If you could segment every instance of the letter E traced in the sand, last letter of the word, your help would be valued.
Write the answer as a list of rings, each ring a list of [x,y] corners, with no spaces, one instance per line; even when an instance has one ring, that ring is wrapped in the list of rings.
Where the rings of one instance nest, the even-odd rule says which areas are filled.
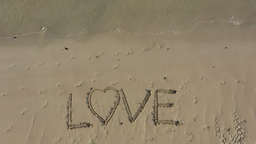
[[[158,107],[173,107],[173,103],[159,104],[158,103],[158,93],[166,93],[166,94],[176,94],[177,91],[172,89],[156,89],[155,91],[155,105],[154,105],[154,123],[157,124],[173,124],[173,125],[182,125],[179,121],[173,120],[159,120],[158,119]]]

